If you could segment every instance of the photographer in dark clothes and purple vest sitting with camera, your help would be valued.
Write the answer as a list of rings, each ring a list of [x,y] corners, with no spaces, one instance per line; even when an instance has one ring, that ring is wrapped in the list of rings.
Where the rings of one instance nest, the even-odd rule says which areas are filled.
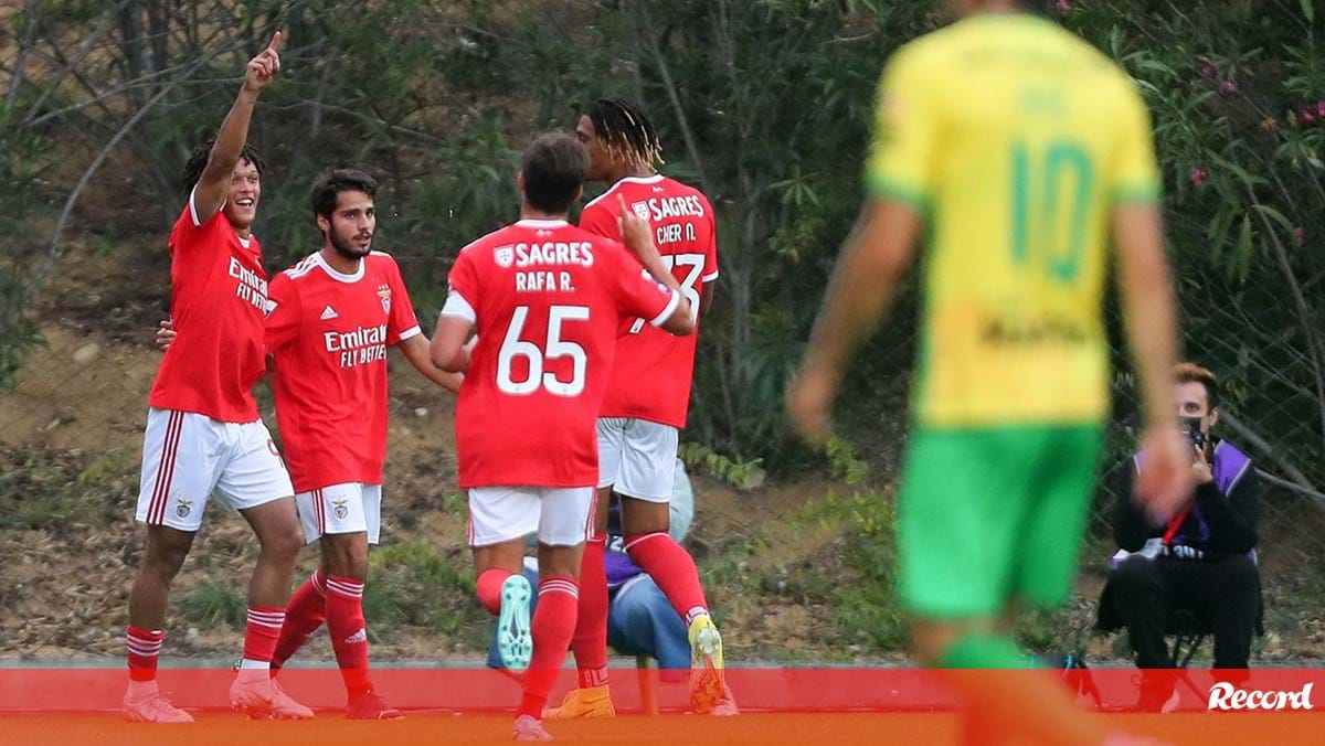
[[[1120,465],[1113,535],[1121,550],[1100,599],[1098,627],[1128,628],[1138,668],[1174,668],[1165,633],[1186,612],[1189,625],[1214,633],[1216,669],[1246,669],[1260,615],[1253,551],[1260,481],[1246,453],[1211,437],[1219,421],[1215,374],[1183,363],[1174,378],[1178,416],[1192,444],[1195,493],[1171,521],[1157,523],[1133,501],[1145,452]],[[1166,692],[1151,696],[1167,698]]]

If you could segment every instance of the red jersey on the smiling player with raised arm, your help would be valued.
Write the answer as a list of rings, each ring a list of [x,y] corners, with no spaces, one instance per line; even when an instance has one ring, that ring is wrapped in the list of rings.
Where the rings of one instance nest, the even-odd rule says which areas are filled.
[[[193,195],[170,233],[171,319],[147,403],[223,423],[257,420],[253,384],[266,367],[266,273],[257,239],[240,239],[221,211],[197,220]]]

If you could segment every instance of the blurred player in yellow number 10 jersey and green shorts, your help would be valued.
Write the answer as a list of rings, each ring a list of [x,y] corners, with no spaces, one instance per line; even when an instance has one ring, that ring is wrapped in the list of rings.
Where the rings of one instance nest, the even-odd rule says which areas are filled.
[[[898,501],[913,651],[954,669],[970,735],[1094,746],[1104,725],[1047,672],[988,686],[969,669],[1026,668],[1003,632],[1012,604],[1059,604],[1071,588],[1108,416],[1109,233],[1145,395],[1138,500],[1165,515],[1186,494],[1150,122],[1128,74],[1052,21],[1014,0],[950,7],[958,23],[905,45],[884,72],[869,199],[788,407],[806,435],[827,436],[848,358],[924,228],[924,337]]]

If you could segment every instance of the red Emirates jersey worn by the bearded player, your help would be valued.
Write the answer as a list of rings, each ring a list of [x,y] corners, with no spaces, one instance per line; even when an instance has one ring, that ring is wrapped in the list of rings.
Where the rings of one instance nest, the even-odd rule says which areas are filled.
[[[384,253],[370,253],[355,274],[314,253],[272,280],[266,343],[295,492],[382,484],[387,347],[416,334],[400,269]]]

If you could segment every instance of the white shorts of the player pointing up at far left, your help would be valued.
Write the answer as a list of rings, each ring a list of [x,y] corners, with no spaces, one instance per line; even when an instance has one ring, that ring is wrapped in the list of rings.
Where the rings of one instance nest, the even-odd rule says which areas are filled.
[[[152,526],[196,531],[212,494],[236,510],[294,494],[266,425],[150,408],[135,517]]]

